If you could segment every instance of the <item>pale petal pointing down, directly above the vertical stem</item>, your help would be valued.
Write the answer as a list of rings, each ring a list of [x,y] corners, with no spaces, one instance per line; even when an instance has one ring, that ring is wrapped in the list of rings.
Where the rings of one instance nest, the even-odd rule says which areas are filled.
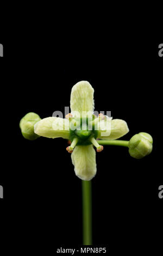
[[[78,178],[91,180],[96,175],[96,151],[92,145],[76,146],[71,159]]]

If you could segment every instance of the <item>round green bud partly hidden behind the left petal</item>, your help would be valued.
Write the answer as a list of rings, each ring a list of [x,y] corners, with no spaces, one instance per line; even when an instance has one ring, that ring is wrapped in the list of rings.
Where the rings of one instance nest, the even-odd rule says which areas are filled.
[[[40,120],[41,118],[39,117],[39,115],[33,112],[24,115],[19,124],[24,138],[29,139],[30,141],[34,141],[34,139],[40,137],[39,135],[34,133],[34,125]]]

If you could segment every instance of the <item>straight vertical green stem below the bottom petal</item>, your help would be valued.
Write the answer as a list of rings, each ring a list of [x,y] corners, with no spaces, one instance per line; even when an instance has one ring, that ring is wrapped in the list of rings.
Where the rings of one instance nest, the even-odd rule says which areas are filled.
[[[82,180],[83,245],[92,245],[92,188],[91,181]]]

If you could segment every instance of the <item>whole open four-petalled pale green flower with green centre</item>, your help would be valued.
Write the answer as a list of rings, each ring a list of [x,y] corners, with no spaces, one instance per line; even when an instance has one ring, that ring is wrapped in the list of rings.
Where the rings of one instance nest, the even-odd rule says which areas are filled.
[[[91,180],[96,175],[97,152],[103,150],[97,139],[117,139],[129,131],[126,121],[93,114],[94,90],[87,81],[75,84],[71,91],[71,113],[66,119],[48,117],[34,125],[34,132],[47,138],[64,138],[71,141],[67,151],[71,154],[74,172],[82,180]]]

